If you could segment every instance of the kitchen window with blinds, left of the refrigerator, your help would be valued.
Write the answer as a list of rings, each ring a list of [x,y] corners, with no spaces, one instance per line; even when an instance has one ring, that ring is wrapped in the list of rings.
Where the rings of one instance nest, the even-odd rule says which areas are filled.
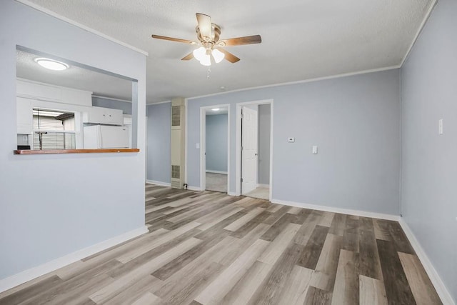
[[[74,113],[33,109],[34,150],[75,149]]]

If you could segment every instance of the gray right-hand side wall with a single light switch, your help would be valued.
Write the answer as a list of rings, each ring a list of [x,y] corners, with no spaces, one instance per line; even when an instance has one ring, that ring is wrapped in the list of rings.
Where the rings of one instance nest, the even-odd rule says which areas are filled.
[[[457,1],[440,0],[401,69],[403,218],[457,301]],[[443,135],[438,120],[443,119]]]

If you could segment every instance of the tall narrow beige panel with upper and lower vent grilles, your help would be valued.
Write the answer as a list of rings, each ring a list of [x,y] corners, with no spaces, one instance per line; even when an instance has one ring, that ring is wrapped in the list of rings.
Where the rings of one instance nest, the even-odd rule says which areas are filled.
[[[171,99],[171,187],[184,188],[184,98]]]

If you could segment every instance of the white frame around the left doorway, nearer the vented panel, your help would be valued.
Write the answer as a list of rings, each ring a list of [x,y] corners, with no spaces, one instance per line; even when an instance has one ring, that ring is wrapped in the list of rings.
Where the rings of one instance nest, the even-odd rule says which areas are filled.
[[[213,108],[227,108],[227,194],[230,189],[230,104],[218,104],[200,107],[200,189],[206,189],[206,110]]]

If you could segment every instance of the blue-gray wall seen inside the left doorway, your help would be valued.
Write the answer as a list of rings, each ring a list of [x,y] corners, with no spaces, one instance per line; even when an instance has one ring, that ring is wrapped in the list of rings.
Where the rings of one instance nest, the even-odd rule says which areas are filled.
[[[227,114],[206,116],[206,171],[227,171]]]

